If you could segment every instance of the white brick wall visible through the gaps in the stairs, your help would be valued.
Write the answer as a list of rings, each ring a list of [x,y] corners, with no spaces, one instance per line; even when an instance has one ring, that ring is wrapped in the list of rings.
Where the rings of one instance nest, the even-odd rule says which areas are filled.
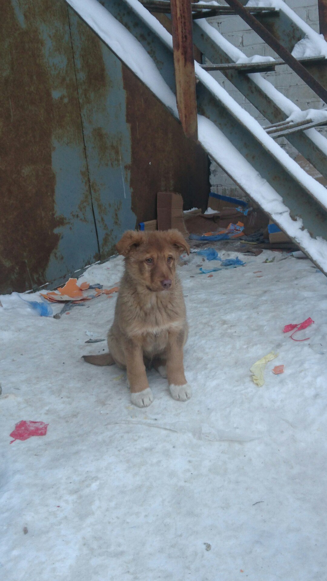
[[[298,16],[301,17],[311,28],[319,33],[318,0],[286,0]],[[261,55],[279,58],[272,49],[258,37],[254,31],[239,16],[216,16],[208,19],[208,22],[216,27],[219,32],[234,46],[240,48],[246,56]],[[230,83],[222,73],[216,71],[211,73],[219,84],[229,92],[243,109],[246,109],[261,125],[269,124],[264,117],[255,109],[247,99]],[[317,95],[303,83],[303,81],[293,73],[288,65],[276,67],[275,73],[264,73],[263,76],[274,85],[283,95],[291,99],[300,109],[321,109],[322,101]],[[319,129],[327,137],[326,129]],[[293,158],[297,151],[285,138],[276,140],[279,145],[286,149]],[[225,172],[217,166],[211,164],[211,189],[213,192],[223,195],[237,196],[244,198],[244,193],[234,184]]]

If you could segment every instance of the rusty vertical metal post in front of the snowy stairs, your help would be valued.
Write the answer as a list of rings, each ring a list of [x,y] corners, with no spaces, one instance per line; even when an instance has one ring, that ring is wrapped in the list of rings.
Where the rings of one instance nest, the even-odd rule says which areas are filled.
[[[185,135],[197,141],[197,97],[191,2],[190,0],[170,0],[170,7],[179,119]]]

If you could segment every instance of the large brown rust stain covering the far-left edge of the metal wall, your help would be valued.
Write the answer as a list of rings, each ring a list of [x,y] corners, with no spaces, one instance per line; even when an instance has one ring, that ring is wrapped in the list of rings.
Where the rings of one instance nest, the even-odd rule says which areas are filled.
[[[40,8],[40,7],[38,7]],[[55,229],[65,218],[55,214],[52,136],[65,130],[70,107],[65,95],[54,103],[43,41],[33,3],[24,10],[24,28],[10,2],[2,5],[0,88],[0,291],[23,291],[44,282],[56,249]],[[42,6],[54,16],[51,2]],[[55,17],[58,18],[58,5]]]

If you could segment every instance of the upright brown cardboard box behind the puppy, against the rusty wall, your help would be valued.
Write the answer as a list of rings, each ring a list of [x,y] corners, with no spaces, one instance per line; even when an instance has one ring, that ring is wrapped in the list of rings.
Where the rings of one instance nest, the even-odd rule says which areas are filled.
[[[158,192],[157,195],[158,230],[176,228],[183,236],[189,236],[184,224],[183,198],[176,192]]]

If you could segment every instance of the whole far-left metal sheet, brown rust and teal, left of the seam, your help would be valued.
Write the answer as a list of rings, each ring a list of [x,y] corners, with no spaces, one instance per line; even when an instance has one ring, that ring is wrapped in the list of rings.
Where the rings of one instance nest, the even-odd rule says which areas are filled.
[[[1,23],[0,292],[10,292],[97,260],[98,244],[66,5],[7,0]]]

